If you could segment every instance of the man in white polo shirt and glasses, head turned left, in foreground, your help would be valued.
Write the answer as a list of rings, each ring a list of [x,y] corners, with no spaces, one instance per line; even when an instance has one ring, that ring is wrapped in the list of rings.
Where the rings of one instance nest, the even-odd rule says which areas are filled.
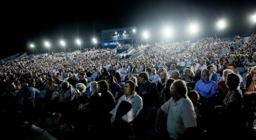
[[[170,86],[172,98],[168,100],[156,115],[156,132],[160,133],[160,122],[164,113],[168,114],[167,130],[170,138],[188,138],[196,132],[196,113],[191,100],[187,97],[186,83],[175,80]]]

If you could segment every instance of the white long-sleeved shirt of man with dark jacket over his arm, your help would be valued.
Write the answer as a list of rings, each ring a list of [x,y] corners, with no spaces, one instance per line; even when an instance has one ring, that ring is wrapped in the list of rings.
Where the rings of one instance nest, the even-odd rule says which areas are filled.
[[[132,104],[132,109],[129,112],[127,112],[124,116],[122,116],[122,119],[124,121],[130,123],[130,122],[132,122],[132,120],[134,120],[134,118],[136,118],[140,114],[140,112],[142,110],[142,106],[143,106],[142,98],[136,92],[134,94],[132,94],[130,96],[130,98],[128,98],[128,99],[126,99],[126,96],[123,95],[118,100],[116,107],[109,112],[110,114],[112,114],[112,117],[110,118],[111,122],[114,122],[114,120],[116,118],[116,110],[117,110],[119,104],[125,100]]]

